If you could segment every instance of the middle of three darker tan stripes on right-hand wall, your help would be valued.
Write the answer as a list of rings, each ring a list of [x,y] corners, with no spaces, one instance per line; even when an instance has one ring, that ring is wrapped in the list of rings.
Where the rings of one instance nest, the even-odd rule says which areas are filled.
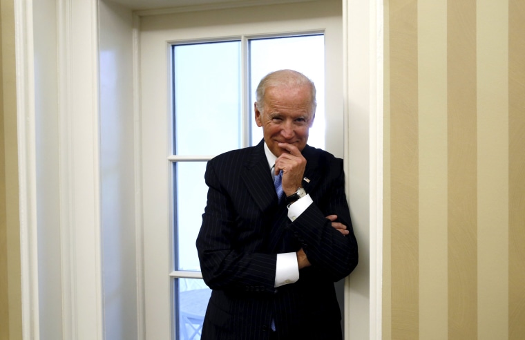
[[[477,338],[476,3],[448,0],[448,339]]]

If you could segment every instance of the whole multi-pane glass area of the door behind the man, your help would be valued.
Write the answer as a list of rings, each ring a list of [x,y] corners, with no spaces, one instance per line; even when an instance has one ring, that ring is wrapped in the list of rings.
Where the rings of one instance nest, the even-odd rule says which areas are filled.
[[[322,34],[171,46],[173,154],[168,160],[174,239],[170,277],[177,339],[200,339],[211,292],[202,281],[195,249],[206,205],[206,161],[262,139],[262,131],[254,124],[254,92],[264,75],[282,68],[303,72],[315,82],[318,108],[309,144],[324,148],[324,50]],[[245,62],[242,56],[247,56]]]

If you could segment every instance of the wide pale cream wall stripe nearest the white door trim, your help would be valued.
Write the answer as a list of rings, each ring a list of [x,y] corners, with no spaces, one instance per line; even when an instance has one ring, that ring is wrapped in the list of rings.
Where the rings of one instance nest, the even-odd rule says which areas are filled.
[[[418,1],[419,339],[447,339],[447,3]]]

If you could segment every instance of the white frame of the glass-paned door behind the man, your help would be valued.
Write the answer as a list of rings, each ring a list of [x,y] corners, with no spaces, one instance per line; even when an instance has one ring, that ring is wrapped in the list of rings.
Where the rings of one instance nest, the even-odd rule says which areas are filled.
[[[337,1],[331,1],[337,4]],[[300,5],[297,5],[300,6]],[[233,9],[231,15],[238,15],[238,11],[250,12],[251,8]],[[270,9],[268,9],[270,10]],[[206,17],[207,12],[194,13],[195,17]],[[225,15],[222,12],[222,15]],[[163,20],[153,17],[142,17],[140,20],[140,97],[141,97],[141,145],[142,145],[142,220],[144,228],[144,306],[146,334],[151,339],[172,339],[173,310],[171,301],[174,301],[173,287],[170,276],[185,278],[200,278],[198,272],[173,272],[173,207],[171,185],[171,167],[169,161],[172,152],[171,126],[172,97],[171,97],[171,45],[173,43],[190,43],[195,41],[241,39],[247,44],[248,39],[274,37],[276,35],[291,36],[318,34],[325,35],[326,48],[332,48],[333,53],[325,55],[325,84],[327,129],[332,136],[338,138],[327,140],[325,149],[343,157],[343,77],[341,65],[343,53],[342,21],[341,16],[313,18],[293,21],[272,21],[271,15],[265,23],[251,23],[243,25],[225,24],[214,27],[169,27],[164,22],[176,22],[182,19],[177,13],[163,16]],[[169,19],[168,19],[169,18]],[[166,20],[164,20],[166,19]],[[227,21],[225,15],[225,21]],[[175,25],[172,25],[172,27]],[[271,30],[271,32],[269,32]],[[326,49],[325,49],[326,50]],[[243,55],[243,68],[247,58]],[[144,65],[147,65],[144,66]],[[242,91],[247,91],[247,79],[242,79]],[[162,85],[164,84],[164,86]],[[329,88],[334,86],[334,88]],[[332,97],[330,97],[332,96]],[[247,96],[244,96],[247,97]],[[251,107],[247,102],[243,108]],[[328,113],[332,113],[332,117]],[[247,115],[243,115],[246,117]],[[248,115],[253,117],[253,115]],[[244,118],[243,118],[244,119]],[[332,119],[332,121],[330,121]],[[247,120],[241,123],[247,127]],[[163,128],[159,130],[159,126]],[[330,127],[332,126],[332,128]],[[248,131],[248,129],[244,129]],[[332,133],[332,131],[334,133]],[[248,144],[247,132],[242,136],[242,144]],[[333,142],[336,140],[336,142]],[[171,156],[173,158],[173,156]],[[181,160],[179,156],[175,156]],[[202,160],[209,157],[204,156]],[[193,160],[193,158],[191,158]],[[200,216],[195,216],[200,218]]]

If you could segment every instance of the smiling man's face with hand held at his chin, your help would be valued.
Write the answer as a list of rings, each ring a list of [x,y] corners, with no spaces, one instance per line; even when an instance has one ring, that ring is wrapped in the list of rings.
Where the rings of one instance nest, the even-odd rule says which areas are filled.
[[[308,130],[314,123],[311,98],[309,86],[269,87],[265,91],[264,113],[255,108],[257,126],[262,126],[265,142],[277,157],[285,151],[278,143],[305,149]]]

